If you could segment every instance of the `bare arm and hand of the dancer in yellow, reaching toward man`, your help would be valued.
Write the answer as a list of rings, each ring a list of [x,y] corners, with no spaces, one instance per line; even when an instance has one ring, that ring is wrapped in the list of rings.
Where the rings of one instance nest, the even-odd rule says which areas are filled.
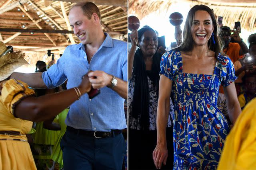
[[[85,76],[80,86],[78,86],[81,94],[90,91],[91,83],[88,76]],[[38,98],[29,96],[14,107],[14,115],[21,119],[29,121],[45,121],[51,119],[78,100],[78,95],[74,88],[63,92],[48,94]]]

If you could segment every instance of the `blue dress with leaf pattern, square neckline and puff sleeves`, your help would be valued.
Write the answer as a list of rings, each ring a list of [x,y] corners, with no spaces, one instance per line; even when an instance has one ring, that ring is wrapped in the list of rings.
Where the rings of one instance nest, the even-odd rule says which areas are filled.
[[[219,86],[236,80],[231,60],[218,55],[214,74],[182,72],[179,51],[161,59],[160,74],[173,80],[174,169],[215,170],[230,127],[216,106]]]

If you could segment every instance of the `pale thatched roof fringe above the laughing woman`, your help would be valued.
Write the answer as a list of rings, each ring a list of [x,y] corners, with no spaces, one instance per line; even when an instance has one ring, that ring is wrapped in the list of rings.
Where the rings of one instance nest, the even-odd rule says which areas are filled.
[[[217,16],[223,16],[223,25],[234,27],[235,21],[241,27],[256,32],[255,0],[129,0],[129,14],[136,14],[142,20],[150,13],[167,12],[174,3],[188,2],[190,6],[204,4],[214,10]]]

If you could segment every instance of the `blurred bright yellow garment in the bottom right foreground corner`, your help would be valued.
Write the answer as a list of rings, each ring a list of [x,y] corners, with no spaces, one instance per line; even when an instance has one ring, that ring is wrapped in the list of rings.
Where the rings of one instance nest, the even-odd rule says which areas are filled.
[[[243,109],[229,135],[218,170],[256,169],[256,98]]]

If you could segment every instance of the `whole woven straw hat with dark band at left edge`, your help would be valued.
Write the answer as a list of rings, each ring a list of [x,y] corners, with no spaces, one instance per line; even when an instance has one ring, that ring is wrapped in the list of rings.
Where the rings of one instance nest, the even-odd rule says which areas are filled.
[[[0,55],[7,50],[6,45],[0,41]],[[25,56],[22,51],[8,52],[6,55],[0,57],[0,81],[8,78],[16,68],[28,64],[23,58]]]

